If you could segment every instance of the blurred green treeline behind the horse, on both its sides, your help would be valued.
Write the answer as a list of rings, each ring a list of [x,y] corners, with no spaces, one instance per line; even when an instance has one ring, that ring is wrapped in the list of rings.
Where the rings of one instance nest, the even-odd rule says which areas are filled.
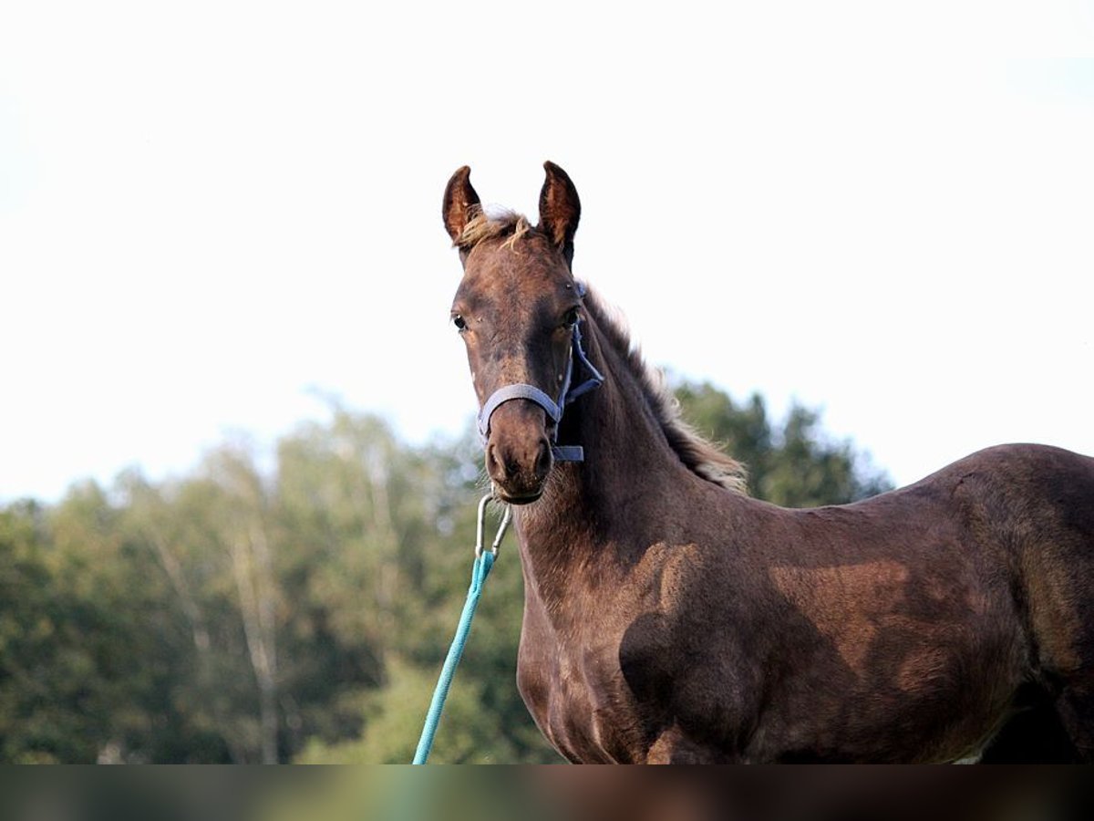
[[[887,488],[815,413],[685,384],[685,415],[789,506]],[[272,456],[272,458],[271,458]],[[463,603],[481,454],[333,408],[276,453],[228,442],[0,509],[0,762],[406,762]],[[556,761],[514,683],[512,544],[431,761]]]

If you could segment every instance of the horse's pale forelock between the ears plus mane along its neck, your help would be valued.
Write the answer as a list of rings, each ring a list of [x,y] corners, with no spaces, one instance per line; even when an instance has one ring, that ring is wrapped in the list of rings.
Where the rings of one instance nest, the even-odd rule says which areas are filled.
[[[487,215],[480,207],[467,221],[455,245],[462,251],[470,251],[484,240],[508,236],[514,243],[535,229],[527,218],[514,211],[499,211]],[[590,313],[604,331],[607,344],[619,355],[638,380],[647,404],[661,425],[661,430],[679,460],[698,476],[715,485],[746,493],[747,474],[745,466],[730,456],[714,442],[705,439],[680,416],[680,404],[665,381],[664,373],[647,365],[638,346],[631,340],[630,332],[622,314],[609,309],[598,296],[590,293],[585,299]]]

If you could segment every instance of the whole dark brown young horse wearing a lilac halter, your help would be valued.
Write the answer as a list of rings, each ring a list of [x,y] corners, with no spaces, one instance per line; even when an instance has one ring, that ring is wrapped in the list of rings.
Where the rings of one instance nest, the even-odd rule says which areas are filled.
[[[1010,444],[853,505],[749,498],[573,278],[578,194],[546,170],[537,226],[485,216],[466,167],[444,223],[486,469],[521,506],[517,683],[558,751],[1089,760],[1094,460]]]

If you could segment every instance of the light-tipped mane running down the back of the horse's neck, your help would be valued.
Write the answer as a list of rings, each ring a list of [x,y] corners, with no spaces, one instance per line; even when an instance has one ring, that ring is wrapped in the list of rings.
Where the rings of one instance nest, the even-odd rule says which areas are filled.
[[[714,442],[703,438],[680,415],[679,400],[673,394],[661,369],[645,362],[633,343],[622,314],[608,308],[598,294],[585,297],[585,308],[604,332],[608,345],[638,380],[645,401],[661,424],[670,447],[693,473],[734,493],[747,493],[745,466]]]

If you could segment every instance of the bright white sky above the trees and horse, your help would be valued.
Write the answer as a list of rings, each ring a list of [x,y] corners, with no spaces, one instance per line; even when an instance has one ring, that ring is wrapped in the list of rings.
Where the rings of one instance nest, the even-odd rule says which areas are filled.
[[[899,485],[1094,454],[1094,3],[374,5],[0,7],[0,502],[464,430],[444,184],[547,159],[650,361]]]

